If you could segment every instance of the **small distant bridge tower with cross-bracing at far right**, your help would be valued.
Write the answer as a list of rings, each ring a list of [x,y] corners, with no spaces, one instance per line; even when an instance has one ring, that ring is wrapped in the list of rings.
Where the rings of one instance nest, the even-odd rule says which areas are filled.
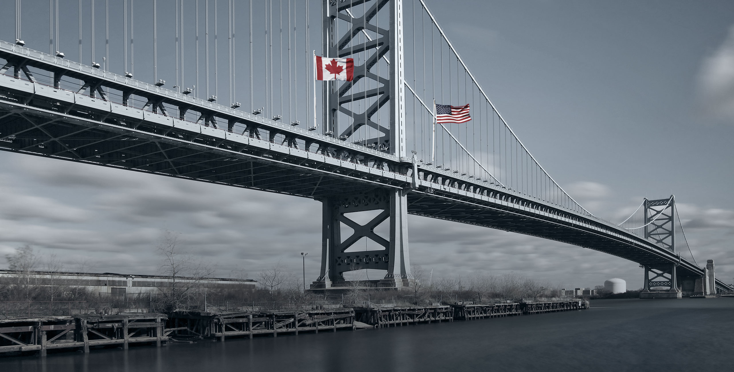
[[[644,200],[644,237],[675,253],[675,198]],[[680,256],[679,256],[680,260]],[[640,298],[680,298],[678,263],[643,265],[644,288]],[[686,284],[688,284],[688,280]],[[660,289],[666,288],[666,289]],[[688,288],[686,288],[688,289]],[[692,288],[691,288],[692,291]]]

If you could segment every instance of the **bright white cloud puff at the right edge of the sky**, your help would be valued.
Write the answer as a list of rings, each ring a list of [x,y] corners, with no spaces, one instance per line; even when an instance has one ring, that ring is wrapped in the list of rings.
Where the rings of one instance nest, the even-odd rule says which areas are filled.
[[[734,26],[724,43],[704,59],[699,93],[707,114],[734,124]]]

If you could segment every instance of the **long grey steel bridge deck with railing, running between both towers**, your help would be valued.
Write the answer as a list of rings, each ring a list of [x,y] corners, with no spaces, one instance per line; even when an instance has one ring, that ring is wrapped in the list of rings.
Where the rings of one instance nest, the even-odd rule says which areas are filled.
[[[0,150],[316,198],[404,189],[410,214],[703,270],[608,222],[514,190],[0,42],[0,58],[165,103],[179,116],[0,74]],[[60,74],[60,73],[59,73]],[[144,100],[144,101],[145,101]],[[158,106],[165,107],[165,106]],[[191,112],[200,120],[189,121]],[[183,114],[181,114],[183,113]],[[189,116],[186,116],[189,114]],[[203,120],[201,120],[204,118]],[[208,119],[207,119],[208,118]],[[219,123],[222,128],[219,128]],[[222,123],[227,123],[224,129]],[[417,172],[416,172],[417,171]],[[717,280],[724,288],[724,283]]]

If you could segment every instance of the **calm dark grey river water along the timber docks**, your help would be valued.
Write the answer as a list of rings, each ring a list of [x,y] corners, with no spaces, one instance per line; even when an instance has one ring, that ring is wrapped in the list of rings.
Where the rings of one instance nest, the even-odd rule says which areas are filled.
[[[566,313],[0,357],[0,371],[733,371],[733,330],[734,298],[596,300]]]

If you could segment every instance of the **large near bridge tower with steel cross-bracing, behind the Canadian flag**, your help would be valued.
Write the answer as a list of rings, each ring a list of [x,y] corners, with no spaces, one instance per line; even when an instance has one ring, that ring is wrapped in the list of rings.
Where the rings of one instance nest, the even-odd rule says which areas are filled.
[[[398,156],[402,169],[392,170],[407,174],[414,159],[406,154],[402,1],[324,0],[323,4],[325,56],[355,59],[353,81],[323,82],[324,134]],[[378,18],[382,20],[377,23],[379,27]],[[386,18],[389,25],[385,24]],[[380,59],[388,59],[389,63]],[[382,67],[377,68],[378,65]],[[377,135],[355,138],[360,128],[363,128],[359,132],[362,135]],[[409,285],[407,190],[376,187],[368,194],[353,194],[345,189],[343,195],[323,198],[321,202],[324,203],[321,273],[310,285],[311,290],[338,291],[349,285],[344,272],[360,269],[387,270],[381,280],[371,280],[371,285],[377,287]],[[345,216],[364,211],[382,212],[365,225]],[[382,237],[374,230],[385,221],[390,233]],[[342,236],[342,224],[353,230],[351,235]],[[355,243],[362,238],[376,243],[380,249],[356,247]]]

